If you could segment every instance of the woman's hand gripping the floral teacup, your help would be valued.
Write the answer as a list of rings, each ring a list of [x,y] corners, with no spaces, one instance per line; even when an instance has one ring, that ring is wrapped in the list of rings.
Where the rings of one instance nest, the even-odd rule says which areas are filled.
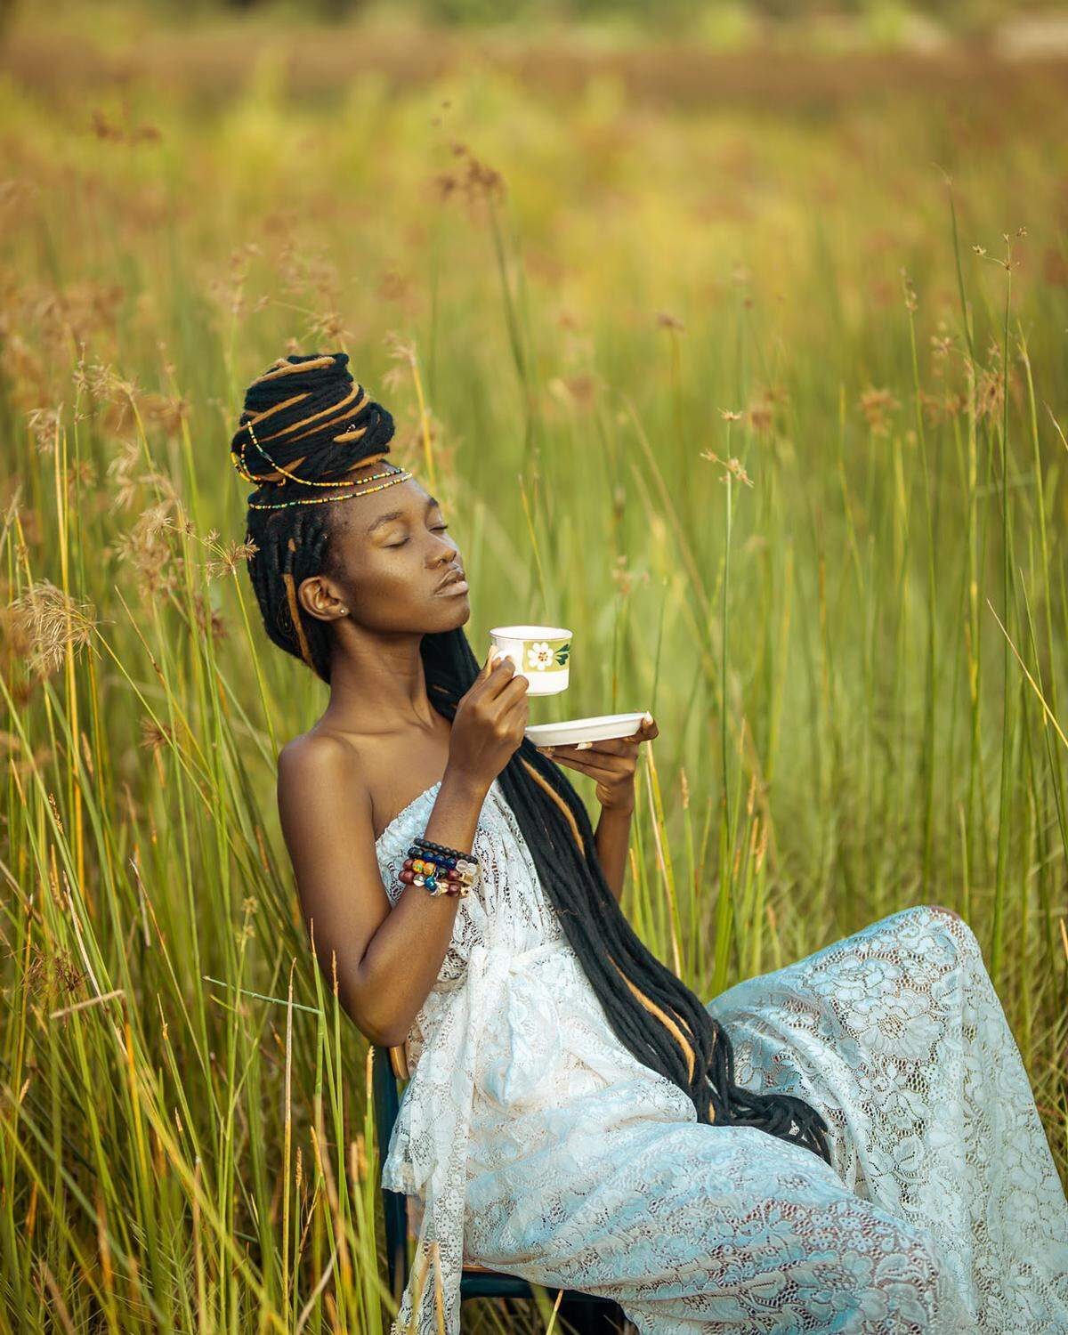
[[[526,734],[530,682],[491,647],[471,689],[461,697],[449,741],[449,765],[489,786]]]

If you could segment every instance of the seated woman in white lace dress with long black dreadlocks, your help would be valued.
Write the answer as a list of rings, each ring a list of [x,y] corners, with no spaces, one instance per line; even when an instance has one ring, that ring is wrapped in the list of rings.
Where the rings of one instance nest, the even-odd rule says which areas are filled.
[[[330,686],[279,757],[314,949],[370,1040],[409,1041],[399,1322],[455,1332],[471,1260],[655,1335],[1068,1331],[1068,1204],[971,930],[908,909],[704,1005],[618,902],[655,724],[557,749],[594,832],[347,360],[275,362],[232,455],[267,633]]]

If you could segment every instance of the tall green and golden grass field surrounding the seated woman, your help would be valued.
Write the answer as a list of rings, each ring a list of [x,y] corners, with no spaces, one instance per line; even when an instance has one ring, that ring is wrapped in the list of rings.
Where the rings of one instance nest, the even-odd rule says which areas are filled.
[[[0,69],[5,1328],[388,1319],[275,814],[324,693],[235,558],[287,351],[395,413],[478,654],[574,627],[531,721],[655,714],[661,957],[955,908],[1068,1177],[1065,71],[134,31]]]

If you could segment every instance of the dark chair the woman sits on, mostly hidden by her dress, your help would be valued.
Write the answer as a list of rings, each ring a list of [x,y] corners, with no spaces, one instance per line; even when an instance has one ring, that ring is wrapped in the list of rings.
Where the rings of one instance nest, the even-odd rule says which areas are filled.
[[[374,1048],[374,1104],[375,1135],[384,1155],[392,1136],[394,1123],[400,1109],[398,1080],[407,1080],[407,1053],[403,1047]],[[390,1275],[390,1292],[400,1300],[409,1282],[409,1218],[407,1197],[395,1191],[382,1189],[382,1216],[386,1226],[386,1264]],[[461,1274],[459,1299],[466,1303],[471,1298],[531,1299],[534,1291],[527,1280],[518,1275],[505,1275],[487,1270],[485,1266],[466,1263]],[[555,1299],[554,1299],[555,1300]],[[565,1288],[559,1304],[559,1318],[577,1331],[607,1332],[625,1328],[622,1308],[607,1298],[583,1294]]]

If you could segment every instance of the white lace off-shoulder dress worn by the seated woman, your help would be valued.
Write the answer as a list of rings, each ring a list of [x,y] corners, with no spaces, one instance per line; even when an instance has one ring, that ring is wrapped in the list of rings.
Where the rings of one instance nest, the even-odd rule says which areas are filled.
[[[378,840],[394,897],[438,788]],[[1068,1203],[963,922],[906,909],[709,1003],[741,1084],[824,1113],[830,1168],[700,1124],[627,1052],[498,780],[474,850],[383,1164],[423,1207],[400,1323],[455,1335],[470,1260],[613,1298],[655,1335],[1068,1332]]]

